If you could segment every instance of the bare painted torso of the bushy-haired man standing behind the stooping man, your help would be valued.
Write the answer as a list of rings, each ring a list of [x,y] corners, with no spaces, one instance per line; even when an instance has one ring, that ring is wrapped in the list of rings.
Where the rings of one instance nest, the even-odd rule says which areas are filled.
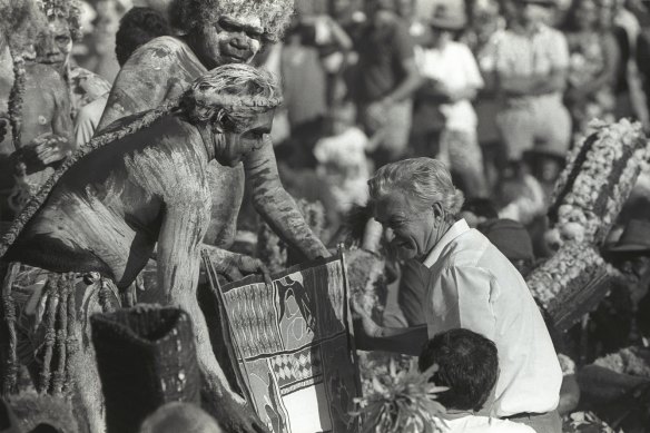
[[[206,68],[184,41],[173,37],[151,40],[131,55],[117,76],[98,130],[180,96],[205,72]],[[213,161],[208,170],[213,216],[205,243],[228,248],[235,238],[244,197],[244,167],[228,168]]]

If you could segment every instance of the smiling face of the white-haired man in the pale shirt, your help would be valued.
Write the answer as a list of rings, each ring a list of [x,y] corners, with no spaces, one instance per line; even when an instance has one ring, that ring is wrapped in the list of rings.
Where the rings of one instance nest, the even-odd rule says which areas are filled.
[[[384,227],[391,247],[402,259],[422,258],[435,246],[433,207],[413,206],[402,191],[392,191],[374,206],[374,217]]]

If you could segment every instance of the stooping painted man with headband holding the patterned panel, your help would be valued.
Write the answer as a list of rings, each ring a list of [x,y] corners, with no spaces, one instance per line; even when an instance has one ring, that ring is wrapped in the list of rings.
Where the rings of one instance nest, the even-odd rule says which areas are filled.
[[[24,336],[35,344],[32,356],[48,347],[36,338],[43,326],[37,318],[22,323],[30,316],[29,305],[49,306],[53,297],[65,304],[61,299],[70,299],[70,292],[78,294],[76,299],[83,299],[67,304],[68,312],[73,306],[78,324],[69,336],[80,342],[81,351],[78,355],[69,351],[71,364],[58,377],[71,380],[61,385],[56,383],[56,372],[43,374],[41,370],[37,387],[65,392],[70,383],[79,384],[86,415],[93,416],[92,432],[101,431],[102,412],[101,392],[92,374],[87,319],[92,312],[124,305],[120,296],[156,245],[155,301],[181,307],[194,321],[206,409],[226,431],[264,430],[225,385],[196,287],[200,252],[206,248],[201,239],[210,220],[208,164],[216,160],[213,168],[225,170],[265,146],[264,136],[270,131],[274,109],[280,101],[279,88],[268,72],[229,65],[204,73],[179,100],[115,122],[66,160],[0,244],[0,257],[11,263],[4,273],[9,277],[0,279],[11,285],[2,288],[2,305],[13,303],[19,313],[14,322],[18,341],[12,343],[19,355],[24,347],[24,328],[37,329],[35,335]],[[229,267],[260,267],[253,259],[247,263],[227,252],[216,250],[215,255],[219,256],[216,263],[223,273],[228,273]],[[33,267],[47,269],[41,274],[47,274],[48,282],[39,286]],[[47,311],[41,315],[49,317]],[[58,323],[52,322],[52,326]],[[49,382],[43,383],[43,378]]]

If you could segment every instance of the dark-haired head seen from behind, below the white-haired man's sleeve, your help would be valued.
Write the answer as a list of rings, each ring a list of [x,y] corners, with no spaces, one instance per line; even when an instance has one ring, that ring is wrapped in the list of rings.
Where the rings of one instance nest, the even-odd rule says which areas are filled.
[[[452,329],[430,339],[420,354],[420,371],[433,364],[439,370],[432,381],[449,387],[437,400],[451,410],[480,411],[499,377],[496,346],[470,329]]]

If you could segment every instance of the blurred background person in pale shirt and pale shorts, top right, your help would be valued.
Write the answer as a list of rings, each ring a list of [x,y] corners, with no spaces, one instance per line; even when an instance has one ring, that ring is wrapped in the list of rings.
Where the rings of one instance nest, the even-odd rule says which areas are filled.
[[[482,62],[500,97],[496,122],[510,163],[538,147],[565,154],[571,140],[562,102],[569,48],[564,36],[545,24],[554,3],[504,1],[508,28],[494,40],[491,61]]]

